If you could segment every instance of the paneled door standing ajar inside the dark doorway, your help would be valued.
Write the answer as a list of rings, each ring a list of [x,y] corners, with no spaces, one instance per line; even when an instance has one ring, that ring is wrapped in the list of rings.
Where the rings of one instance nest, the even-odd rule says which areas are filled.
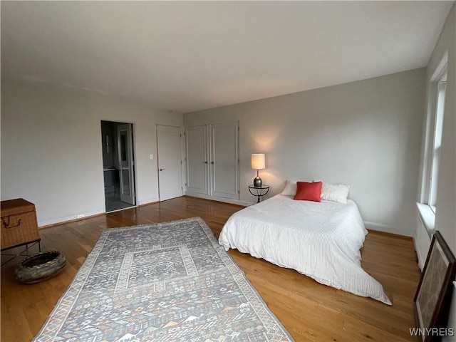
[[[135,205],[135,178],[133,172],[132,125],[118,125],[118,160],[120,175],[120,200]]]

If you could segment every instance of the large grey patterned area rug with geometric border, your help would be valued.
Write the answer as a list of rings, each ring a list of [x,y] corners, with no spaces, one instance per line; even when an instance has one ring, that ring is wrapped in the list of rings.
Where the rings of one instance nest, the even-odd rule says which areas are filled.
[[[33,341],[293,341],[199,217],[106,229]]]

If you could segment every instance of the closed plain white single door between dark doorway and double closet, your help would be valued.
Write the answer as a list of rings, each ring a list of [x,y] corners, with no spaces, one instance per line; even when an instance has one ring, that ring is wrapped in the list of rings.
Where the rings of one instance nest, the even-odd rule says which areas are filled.
[[[182,148],[179,127],[157,125],[160,201],[182,196]]]

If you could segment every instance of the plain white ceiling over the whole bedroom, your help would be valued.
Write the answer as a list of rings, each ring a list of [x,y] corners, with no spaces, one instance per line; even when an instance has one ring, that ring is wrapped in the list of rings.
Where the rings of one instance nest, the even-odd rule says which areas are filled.
[[[1,76],[190,112],[427,64],[454,1],[1,1]]]

